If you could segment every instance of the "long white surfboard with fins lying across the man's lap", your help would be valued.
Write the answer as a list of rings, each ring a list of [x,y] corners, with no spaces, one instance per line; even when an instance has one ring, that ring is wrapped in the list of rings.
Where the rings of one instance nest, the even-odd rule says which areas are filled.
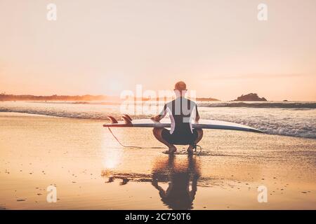
[[[108,119],[110,123],[103,125],[103,127],[171,127],[171,120],[169,118],[163,118],[160,122],[156,122],[151,119],[137,119],[132,120],[130,116],[124,114],[121,122],[118,122],[112,116],[109,116]],[[222,121],[222,120],[204,120],[200,119],[199,123],[192,123],[193,128],[201,129],[214,129],[214,130],[235,130],[235,131],[244,131],[244,132],[257,132],[263,133],[261,130],[258,130],[254,127],[249,127],[246,125],[241,125],[237,123]]]

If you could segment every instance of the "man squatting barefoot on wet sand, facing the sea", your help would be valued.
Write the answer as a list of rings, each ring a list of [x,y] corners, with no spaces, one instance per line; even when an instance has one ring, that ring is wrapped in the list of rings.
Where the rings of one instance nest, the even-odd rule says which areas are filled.
[[[162,113],[151,119],[159,122],[166,113],[169,113],[171,119],[171,130],[165,128],[155,127],[152,132],[154,137],[169,148],[169,153],[172,154],[177,151],[176,145],[189,145],[187,153],[192,154],[195,145],[202,139],[202,129],[192,129],[192,120],[195,123],[199,121],[199,112],[197,111],[197,104],[190,99],[185,98],[187,86],[184,82],[176,83],[174,91],[176,99],[164,105]]]

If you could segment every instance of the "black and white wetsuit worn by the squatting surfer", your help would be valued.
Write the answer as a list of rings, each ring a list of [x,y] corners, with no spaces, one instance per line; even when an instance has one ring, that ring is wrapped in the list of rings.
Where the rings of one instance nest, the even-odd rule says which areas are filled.
[[[165,104],[159,116],[163,118],[166,113],[169,113],[171,119],[171,130],[162,130],[162,138],[170,144],[194,144],[197,131],[192,129],[192,120],[199,116],[197,104],[185,97],[178,97]]]

